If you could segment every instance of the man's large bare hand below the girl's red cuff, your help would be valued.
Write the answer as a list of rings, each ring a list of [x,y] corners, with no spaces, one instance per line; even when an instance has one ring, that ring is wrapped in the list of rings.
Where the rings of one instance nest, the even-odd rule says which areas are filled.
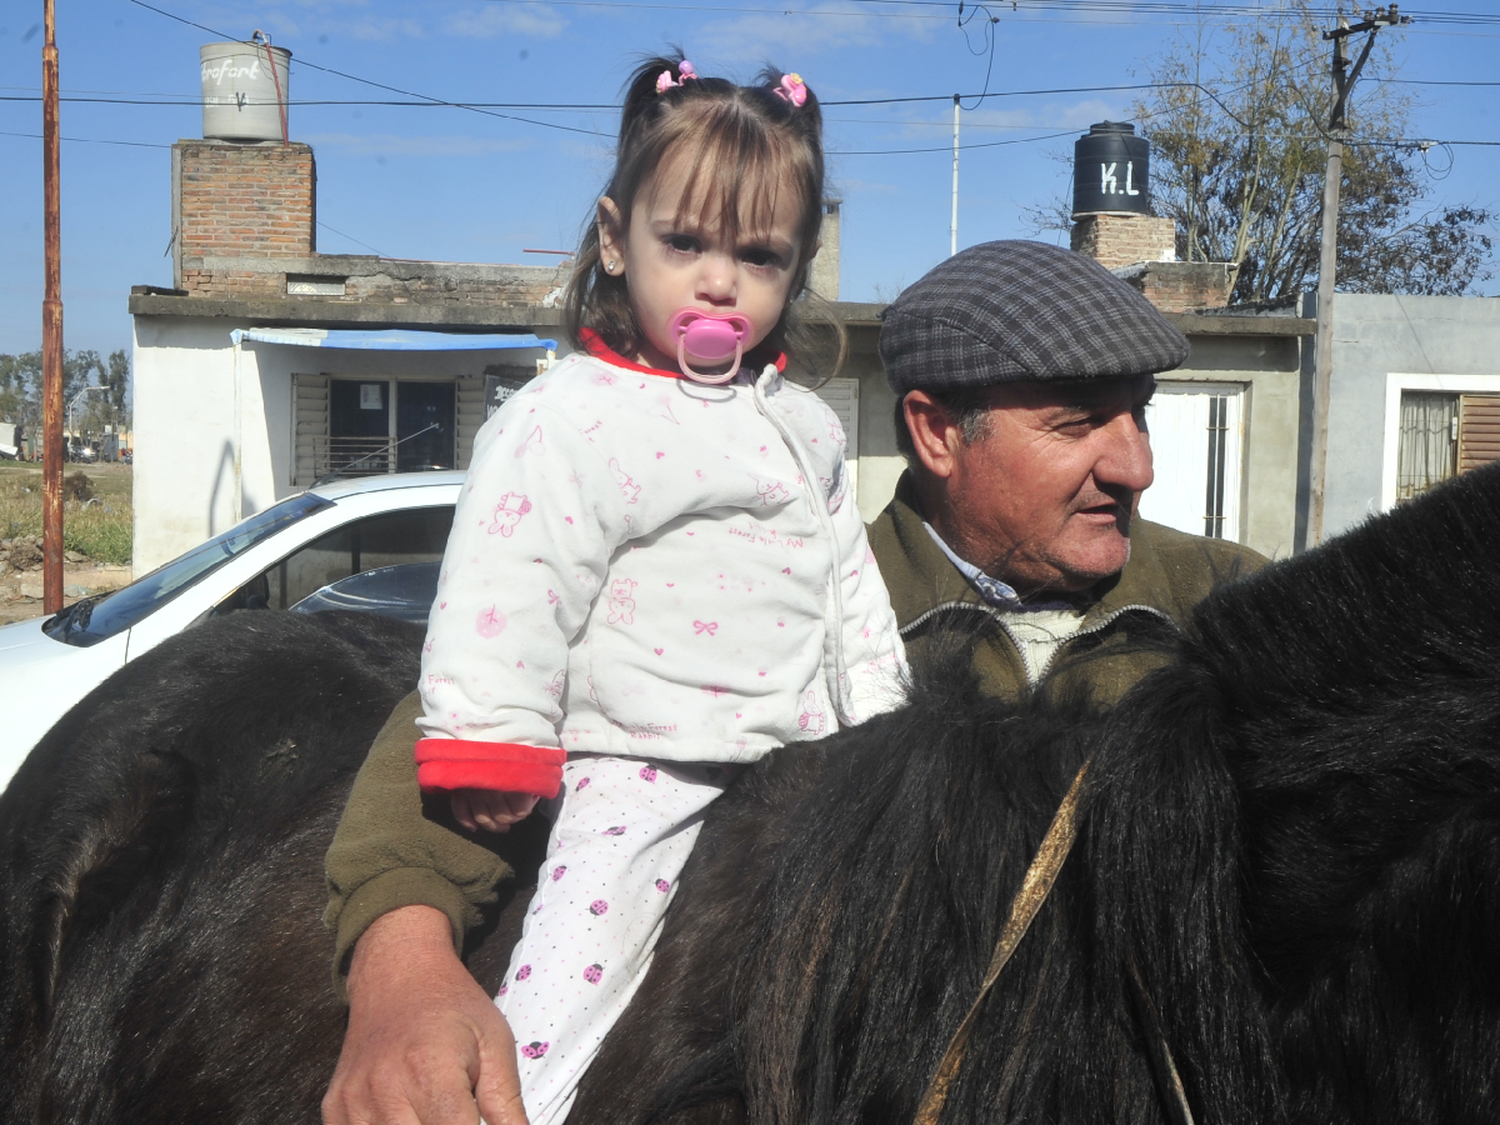
[[[526,1125],[516,1041],[430,906],[378,918],[350,963],[327,1125]]]

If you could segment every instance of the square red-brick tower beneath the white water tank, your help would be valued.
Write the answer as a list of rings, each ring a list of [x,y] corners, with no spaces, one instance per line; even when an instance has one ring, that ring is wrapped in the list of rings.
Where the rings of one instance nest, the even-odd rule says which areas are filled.
[[[267,262],[316,250],[316,182],[306,144],[174,144],[172,285],[195,297],[279,294],[284,274]],[[237,258],[255,261],[236,268]]]

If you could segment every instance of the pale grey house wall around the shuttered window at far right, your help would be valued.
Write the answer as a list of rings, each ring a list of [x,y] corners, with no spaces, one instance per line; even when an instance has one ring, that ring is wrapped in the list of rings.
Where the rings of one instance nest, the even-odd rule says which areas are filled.
[[[1390,507],[1402,387],[1500,392],[1500,300],[1341,292],[1332,370],[1324,537]]]

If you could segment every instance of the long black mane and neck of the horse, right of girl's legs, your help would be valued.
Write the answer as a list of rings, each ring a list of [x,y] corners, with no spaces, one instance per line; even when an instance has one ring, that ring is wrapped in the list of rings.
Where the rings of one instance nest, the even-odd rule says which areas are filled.
[[[952,1119],[1172,1120],[1174,1080],[1214,1122],[1472,1108],[1438,1086],[1455,1060],[1492,1070],[1500,1026],[1497,484],[1226,586],[1107,714],[986,699],[950,654],[908,708],[828,740],[770,830],[748,936],[717,933],[742,950],[729,1038],[666,1104],[736,1089],[758,1125],[910,1120],[1092,750],[1074,858],[981,1011]]]

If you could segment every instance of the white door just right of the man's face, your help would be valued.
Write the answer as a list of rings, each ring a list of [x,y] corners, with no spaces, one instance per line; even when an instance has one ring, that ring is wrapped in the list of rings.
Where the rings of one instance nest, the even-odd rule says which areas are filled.
[[[1146,408],[1155,483],[1140,514],[1178,531],[1239,540],[1245,387],[1161,382]]]

